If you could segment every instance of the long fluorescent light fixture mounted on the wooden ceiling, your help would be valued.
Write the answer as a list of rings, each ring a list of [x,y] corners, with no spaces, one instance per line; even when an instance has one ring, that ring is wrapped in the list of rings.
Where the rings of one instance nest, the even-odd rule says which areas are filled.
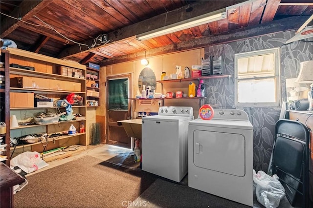
[[[226,18],[226,9],[220,9],[214,12],[210,12],[204,15],[200,15],[198,17],[194,17],[188,20],[176,22],[174,24],[170,24],[146,33],[142,33],[136,36],[138,41],[147,40],[151,38],[156,38],[162,35],[166,35],[169,33],[174,33],[180,30],[184,30],[187,28],[195,27],[201,24],[205,24],[212,21],[218,21]]]

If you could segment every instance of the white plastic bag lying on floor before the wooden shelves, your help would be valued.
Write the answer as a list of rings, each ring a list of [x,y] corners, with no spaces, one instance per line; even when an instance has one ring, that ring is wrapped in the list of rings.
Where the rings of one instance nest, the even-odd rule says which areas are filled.
[[[48,164],[40,158],[38,152],[23,152],[14,157],[11,160],[10,165],[12,167],[18,166],[26,173],[31,173],[48,166]]]

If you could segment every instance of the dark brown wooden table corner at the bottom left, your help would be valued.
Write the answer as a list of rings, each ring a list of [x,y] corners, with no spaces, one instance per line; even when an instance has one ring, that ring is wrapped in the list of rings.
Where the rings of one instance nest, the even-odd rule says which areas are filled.
[[[0,163],[0,198],[2,208],[13,208],[13,187],[26,180],[4,163]]]

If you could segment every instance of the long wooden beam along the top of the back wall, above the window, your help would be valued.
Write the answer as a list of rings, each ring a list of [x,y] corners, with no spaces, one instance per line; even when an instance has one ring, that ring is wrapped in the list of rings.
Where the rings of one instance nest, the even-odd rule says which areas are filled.
[[[248,38],[258,37],[262,35],[273,34],[281,31],[289,31],[298,29],[303,22],[307,20],[307,16],[296,16],[285,18],[277,21],[267,22],[260,25],[253,25],[245,28],[239,28],[231,32],[226,32],[220,35],[209,35],[191,41],[170,44],[163,47],[151,49],[144,52],[138,52],[130,55],[125,55],[117,58],[107,59],[100,62],[100,66],[107,66],[121,62],[131,62],[140,60],[146,57],[160,56],[164,54],[177,53],[207,46],[224,44]],[[291,23],[292,22],[292,23]]]

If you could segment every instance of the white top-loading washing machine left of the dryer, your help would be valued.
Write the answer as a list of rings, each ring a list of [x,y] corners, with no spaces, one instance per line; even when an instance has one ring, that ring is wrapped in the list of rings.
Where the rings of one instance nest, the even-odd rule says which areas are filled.
[[[180,182],[188,172],[188,122],[193,119],[192,107],[177,106],[143,117],[142,170]]]

